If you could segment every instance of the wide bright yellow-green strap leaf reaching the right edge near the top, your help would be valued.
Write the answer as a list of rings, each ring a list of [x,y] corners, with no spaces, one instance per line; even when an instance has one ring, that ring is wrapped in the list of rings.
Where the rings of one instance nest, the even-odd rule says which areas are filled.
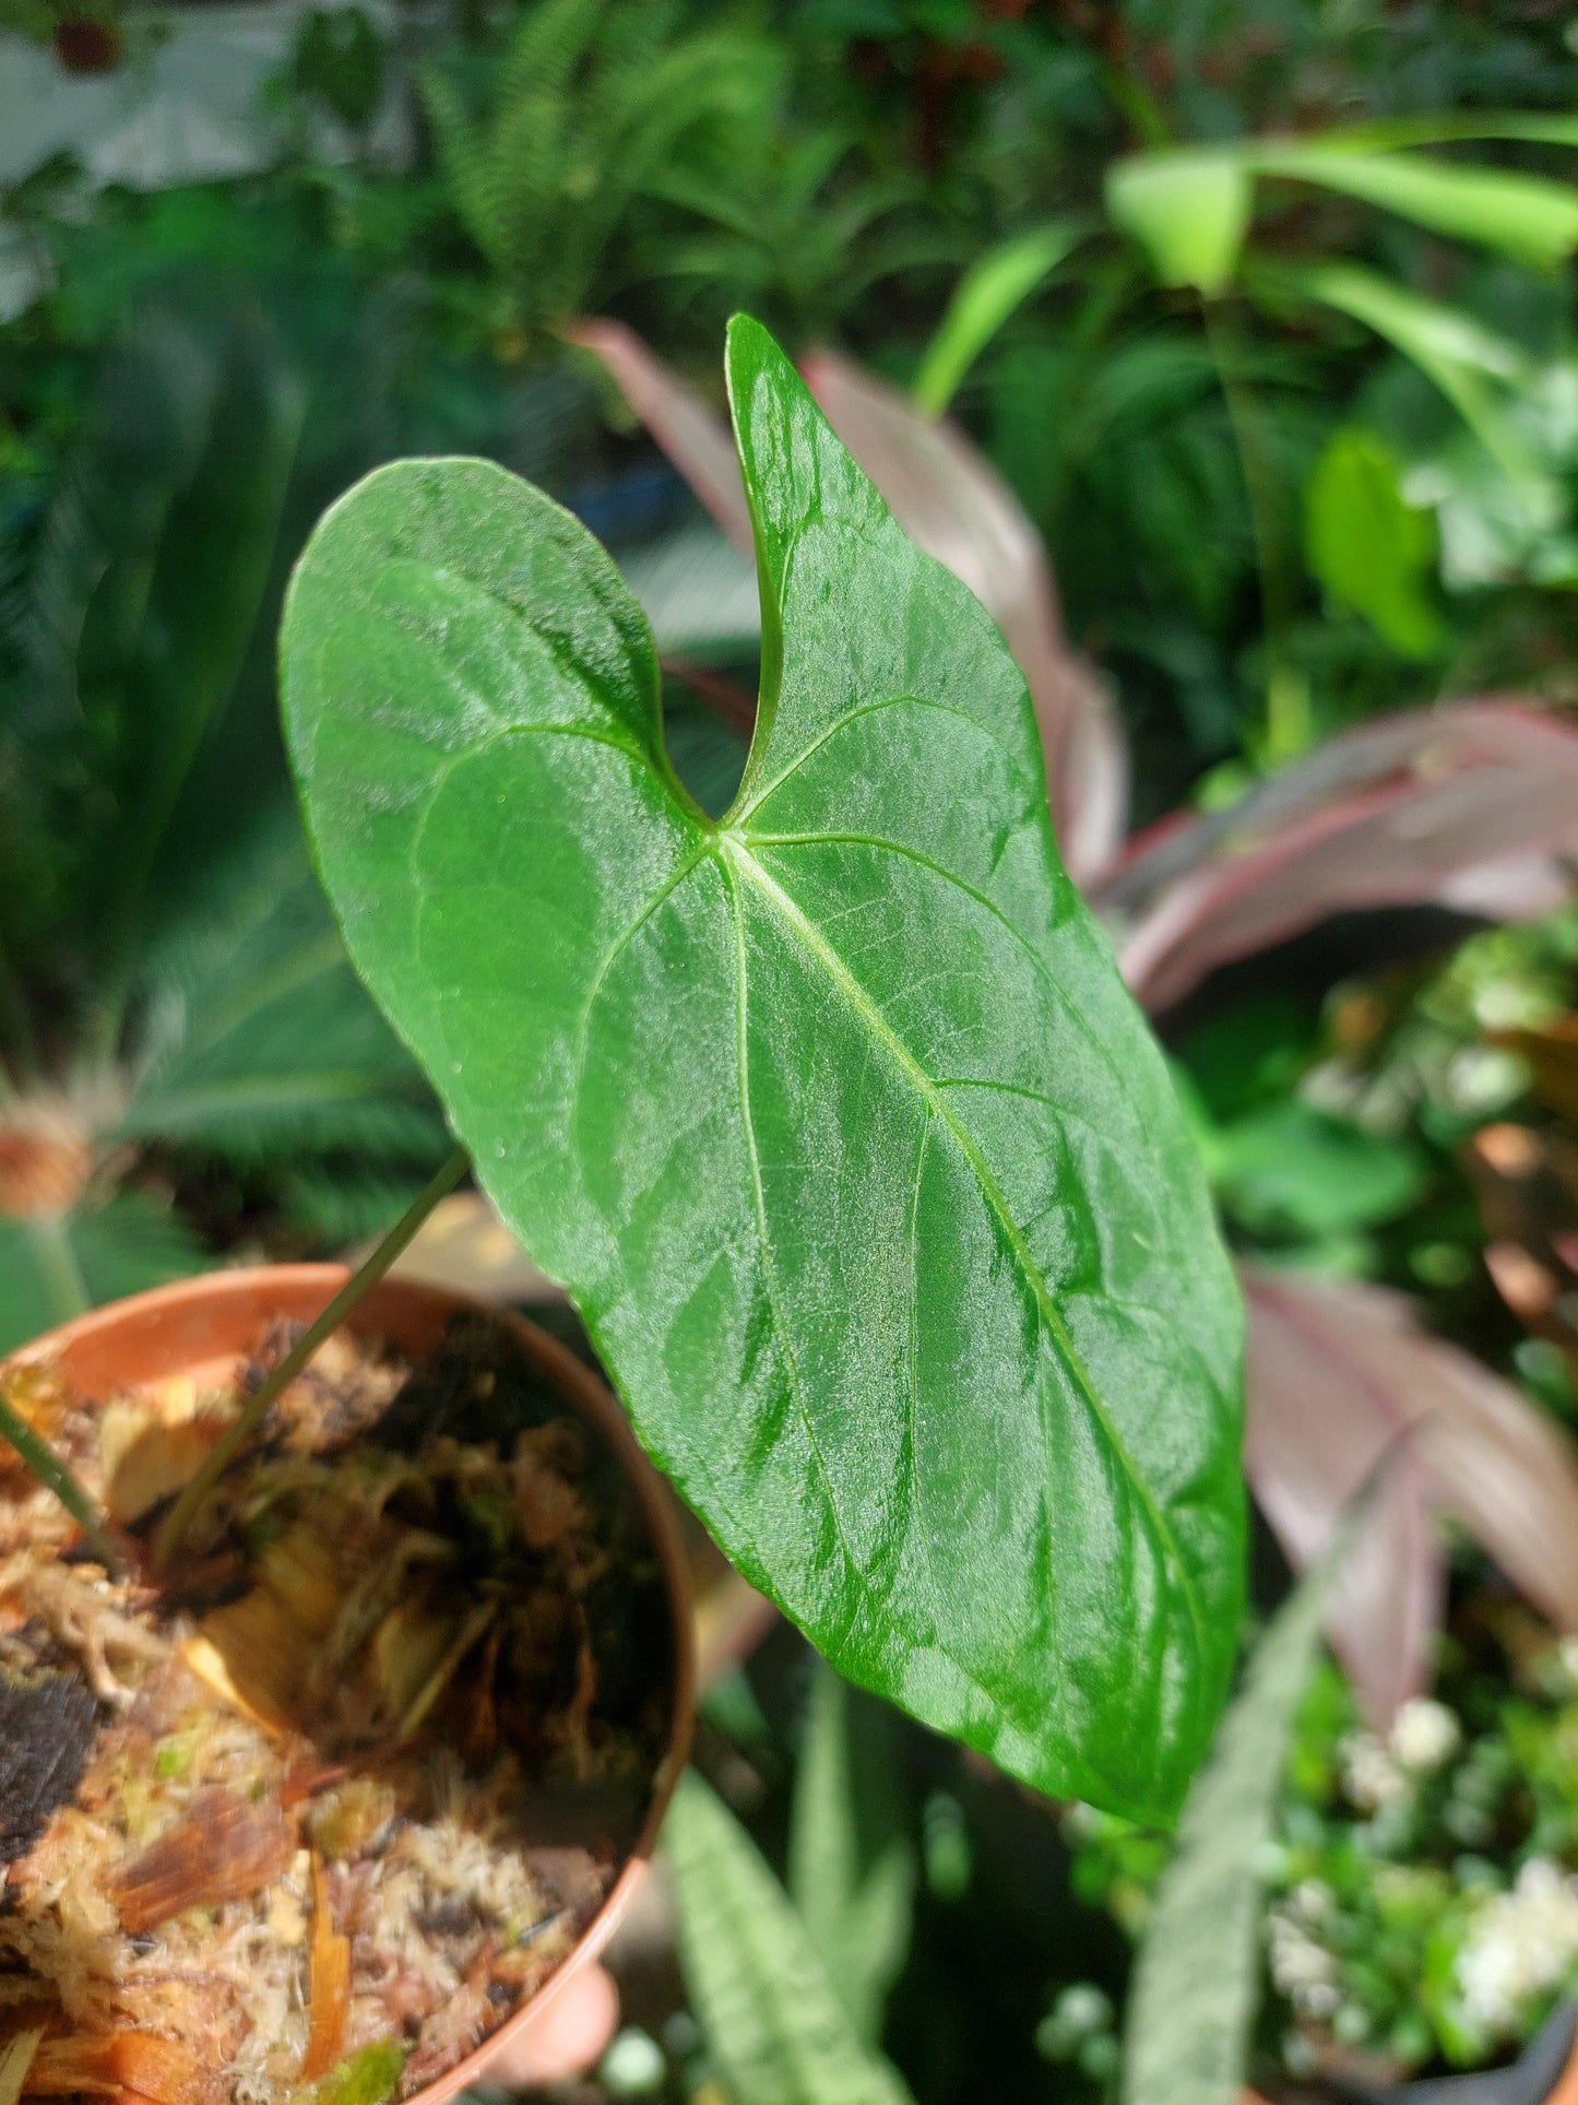
[[[1460,242],[1555,269],[1578,246],[1578,189],[1544,175],[1469,168],[1422,154],[1349,154],[1319,141],[1256,147],[1258,175],[1317,183]]]

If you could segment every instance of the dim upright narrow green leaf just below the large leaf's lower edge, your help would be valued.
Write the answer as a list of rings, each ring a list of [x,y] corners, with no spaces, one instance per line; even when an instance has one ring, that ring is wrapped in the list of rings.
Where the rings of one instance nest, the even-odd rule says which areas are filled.
[[[909,1951],[915,1848],[901,1825],[892,1711],[818,1663],[789,1823],[789,1892],[861,2040]]]

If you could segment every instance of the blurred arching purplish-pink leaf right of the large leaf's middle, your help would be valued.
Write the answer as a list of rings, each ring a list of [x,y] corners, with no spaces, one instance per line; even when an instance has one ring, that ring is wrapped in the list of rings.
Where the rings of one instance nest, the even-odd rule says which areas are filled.
[[[1578,730],[1513,701],[1462,701],[1363,724],[1229,810],[1168,827],[1096,903],[1126,922],[1124,977],[1161,1010],[1332,914],[1469,897],[1506,918],[1544,911],[1530,861],[1574,844]],[[1519,878],[1500,893],[1479,882],[1498,865]]]

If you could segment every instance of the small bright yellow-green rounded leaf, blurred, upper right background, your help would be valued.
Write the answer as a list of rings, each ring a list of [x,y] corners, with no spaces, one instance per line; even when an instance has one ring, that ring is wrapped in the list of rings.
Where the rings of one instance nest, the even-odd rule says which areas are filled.
[[[1351,606],[1403,657],[1441,642],[1429,598],[1435,520],[1403,497],[1403,463],[1378,432],[1340,425],[1304,490],[1304,549],[1328,600]]]

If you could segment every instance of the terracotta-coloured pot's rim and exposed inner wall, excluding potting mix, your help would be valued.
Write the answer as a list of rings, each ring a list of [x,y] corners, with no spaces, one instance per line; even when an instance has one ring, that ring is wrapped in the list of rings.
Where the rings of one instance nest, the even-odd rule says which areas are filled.
[[[215,1271],[198,1280],[181,1280],[147,1295],[114,1301],[109,1307],[80,1316],[23,1345],[6,1364],[53,1360],[67,1381],[88,1398],[107,1398],[116,1389],[189,1375],[204,1385],[227,1381],[255,1349],[259,1332],[271,1318],[311,1322],[313,1316],[345,1284],[343,1265],[257,1265],[244,1271]],[[482,2080],[488,2061],[537,2025],[566,1981],[583,1972],[629,1909],[635,1888],[656,1844],[669,1798],[690,1751],[694,1709],[694,1640],[690,1615],[690,1579],[686,1572],[680,1530],[669,1492],[629,1429],[625,1412],[595,1375],[555,1339],[507,1309],[486,1307],[465,1295],[410,1280],[381,1280],[356,1307],[347,1328],[364,1337],[381,1337],[400,1351],[419,1358],[438,1345],[448,1320],[461,1311],[478,1311],[507,1324],[566,1402],[587,1419],[629,1474],[663,1560],[673,1617],[675,1684],[669,1720],[669,1745],[652,1783],[652,1802],[631,1855],[585,1934],[543,1987],[528,1998],[484,2044],[457,2063],[446,2076],[412,2092],[421,2105],[444,2105],[467,2084]]]

